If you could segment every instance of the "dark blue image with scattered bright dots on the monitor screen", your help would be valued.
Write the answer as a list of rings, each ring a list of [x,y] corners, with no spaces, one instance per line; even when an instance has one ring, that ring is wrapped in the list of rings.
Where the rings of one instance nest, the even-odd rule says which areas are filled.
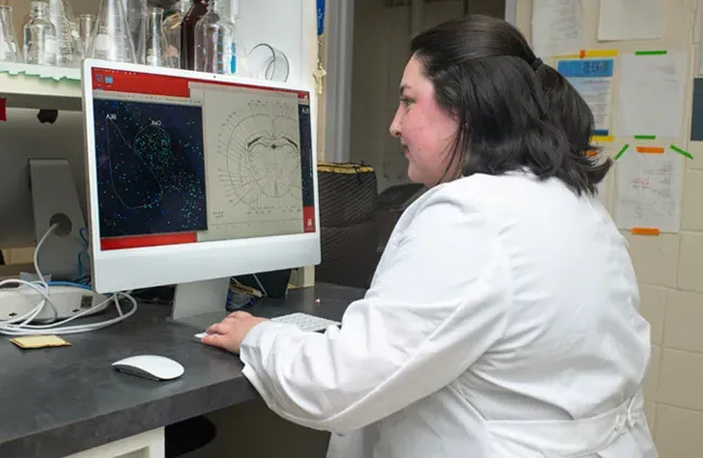
[[[95,99],[101,237],[207,229],[200,106]]]

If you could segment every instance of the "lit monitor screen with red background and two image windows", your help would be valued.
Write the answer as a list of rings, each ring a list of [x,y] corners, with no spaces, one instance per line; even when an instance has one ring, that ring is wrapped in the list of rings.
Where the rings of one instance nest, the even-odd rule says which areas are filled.
[[[316,231],[307,91],[91,73],[102,251]]]

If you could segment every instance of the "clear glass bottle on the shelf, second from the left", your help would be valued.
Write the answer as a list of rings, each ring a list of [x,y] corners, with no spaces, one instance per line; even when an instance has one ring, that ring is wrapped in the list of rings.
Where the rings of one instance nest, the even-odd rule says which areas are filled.
[[[24,26],[24,60],[27,64],[56,65],[56,28],[49,20],[49,4],[30,3],[29,22]]]

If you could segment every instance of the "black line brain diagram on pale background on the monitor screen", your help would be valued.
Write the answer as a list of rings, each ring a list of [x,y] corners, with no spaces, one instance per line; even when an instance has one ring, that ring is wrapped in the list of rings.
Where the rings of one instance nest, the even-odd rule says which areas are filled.
[[[219,120],[213,123],[217,132],[206,123],[206,139],[216,142],[207,157],[210,222],[295,221],[297,228],[303,215],[297,97],[214,91],[205,97],[205,110],[207,122]]]

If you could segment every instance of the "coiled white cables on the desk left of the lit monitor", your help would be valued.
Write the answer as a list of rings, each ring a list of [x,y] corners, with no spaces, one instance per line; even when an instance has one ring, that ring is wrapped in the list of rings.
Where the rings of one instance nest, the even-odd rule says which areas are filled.
[[[37,247],[35,249],[34,267],[35,270],[37,271],[38,280],[36,281],[25,281],[20,279],[0,280],[0,288],[8,287],[8,285],[28,287],[41,295],[41,301],[39,301],[39,304],[37,304],[37,306],[33,308],[30,311],[28,311],[27,314],[9,320],[0,320],[0,334],[38,335],[38,334],[43,334],[47,331],[51,331],[52,334],[75,334],[79,332],[90,332],[90,331],[95,331],[98,329],[106,328],[112,325],[116,325],[129,318],[130,316],[135,315],[135,313],[137,311],[137,301],[128,293],[120,292],[111,295],[106,301],[103,301],[93,307],[87,308],[72,316],[71,318],[56,321],[59,319],[59,310],[56,310],[56,307],[51,303],[51,297],[49,294],[50,285],[49,283],[47,283],[43,275],[41,273],[41,270],[39,269],[39,250],[41,250],[41,246],[44,244],[47,239],[56,230],[57,227],[59,225],[51,226],[49,230],[47,230],[47,232],[41,237],[39,243],[37,243]],[[84,290],[84,288],[78,288],[78,287],[76,287],[76,289]],[[22,292],[17,292],[17,294],[22,294]],[[119,305],[120,296],[131,302],[132,307],[127,314],[123,311],[122,306]],[[94,314],[107,308],[110,303],[112,302],[114,302],[115,307],[117,308],[117,313],[119,314],[118,317],[105,321],[92,322],[87,325],[65,326],[66,323],[75,320],[76,318],[80,318],[88,314]],[[49,305],[49,307],[51,307],[53,311],[53,318],[48,323],[29,325],[37,317],[37,315],[39,315],[41,310],[43,310],[47,304]]]

